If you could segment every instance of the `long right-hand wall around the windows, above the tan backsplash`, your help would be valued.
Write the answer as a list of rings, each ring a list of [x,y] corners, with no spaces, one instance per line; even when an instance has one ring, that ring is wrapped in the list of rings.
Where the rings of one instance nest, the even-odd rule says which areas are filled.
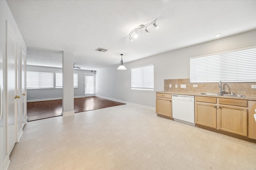
[[[164,79],[190,78],[190,57],[252,45],[256,45],[256,30],[169,51],[130,63],[125,63],[124,57],[124,65],[127,70],[117,70],[118,65],[116,65],[97,71],[96,96],[154,108],[155,92],[134,91],[130,89],[130,69],[132,67],[154,64],[155,91],[161,91],[164,90]]]

